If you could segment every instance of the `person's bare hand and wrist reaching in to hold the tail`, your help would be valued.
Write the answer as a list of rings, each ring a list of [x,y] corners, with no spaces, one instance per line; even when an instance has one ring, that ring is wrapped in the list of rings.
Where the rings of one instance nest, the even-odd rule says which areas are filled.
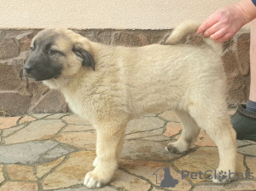
[[[223,42],[255,18],[256,0],[241,0],[236,4],[218,9],[197,29],[197,34],[202,33],[203,38],[210,37],[216,42]]]

